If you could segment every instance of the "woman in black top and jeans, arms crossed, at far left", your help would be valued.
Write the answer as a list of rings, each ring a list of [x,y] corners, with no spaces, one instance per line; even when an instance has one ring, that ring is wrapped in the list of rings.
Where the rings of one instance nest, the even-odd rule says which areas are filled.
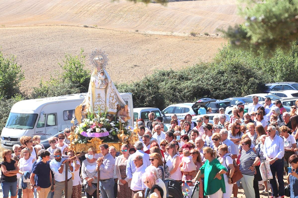
[[[6,149],[2,151],[1,188],[4,198],[8,198],[9,193],[11,198],[17,197],[17,173],[19,170],[16,161],[11,159],[11,156],[10,150]]]

